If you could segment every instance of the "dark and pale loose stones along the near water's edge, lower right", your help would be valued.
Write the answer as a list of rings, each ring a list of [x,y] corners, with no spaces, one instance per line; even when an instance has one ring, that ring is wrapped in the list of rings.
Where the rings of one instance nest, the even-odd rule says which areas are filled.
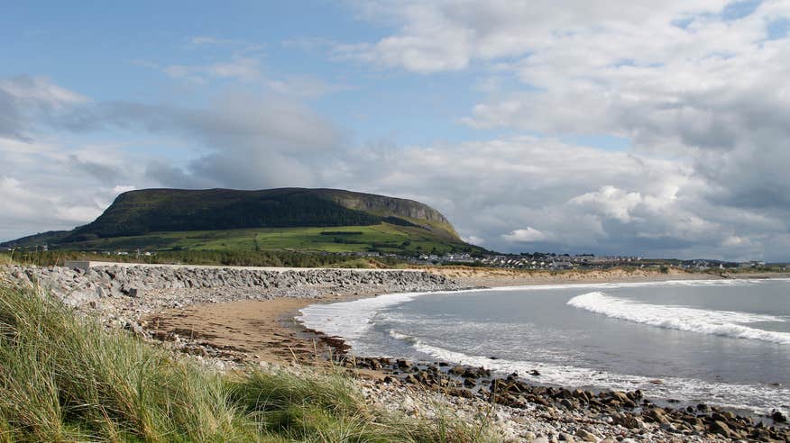
[[[389,391],[437,393],[470,420],[486,405],[499,405],[493,421],[504,435],[519,441],[790,441],[787,418],[773,411],[765,420],[744,417],[704,403],[662,408],[641,392],[593,393],[525,383],[518,374],[492,375],[482,367],[369,357],[346,359],[346,366],[382,371],[379,396]],[[537,371],[532,375],[539,376]],[[376,390],[376,386],[371,389]],[[395,398],[395,397],[393,397]],[[404,394],[400,393],[402,403]],[[400,409],[414,409],[409,400]]]

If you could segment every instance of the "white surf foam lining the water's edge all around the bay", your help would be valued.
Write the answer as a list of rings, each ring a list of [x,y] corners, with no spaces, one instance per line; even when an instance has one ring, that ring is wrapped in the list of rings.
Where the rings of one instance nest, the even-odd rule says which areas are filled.
[[[447,291],[442,293],[409,293],[409,294],[386,294],[378,297],[355,300],[352,302],[341,302],[332,304],[314,304],[303,308],[297,320],[301,321],[306,327],[320,330],[330,336],[338,336],[346,340],[355,352],[362,352],[363,355],[384,355],[381,348],[369,349],[368,354],[364,354],[364,346],[358,346],[358,339],[362,339],[371,330],[374,323],[380,321],[380,312],[386,308],[407,303],[420,295],[424,294],[465,294],[470,292],[484,293],[491,291],[541,291],[556,289],[611,289],[620,287],[641,287],[641,286],[732,286],[732,285],[760,285],[766,282],[776,282],[776,280],[790,281],[790,279],[771,279],[771,280],[674,280],[662,282],[640,282],[640,283],[604,283],[604,284],[569,284],[569,285],[529,285],[512,286],[507,288],[474,289],[468,291]],[[641,303],[644,306],[644,303]],[[692,309],[692,308],[684,308]],[[702,311],[702,310],[700,310]],[[739,313],[741,314],[741,313]],[[746,314],[751,315],[751,314]],[[757,317],[749,317],[754,321],[784,321],[776,317],[761,320]],[[730,317],[731,320],[736,317]],[[743,320],[743,317],[739,317]],[[778,319],[778,320],[777,320]],[[745,321],[746,323],[753,321]],[[737,326],[737,325],[736,325]],[[751,328],[749,328],[751,329]],[[767,331],[763,331],[767,332]],[[777,332],[774,332],[775,334]],[[787,335],[787,334],[785,334]],[[790,389],[783,386],[772,386],[763,384],[717,384],[704,382],[695,379],[685,379],[679,377],[662,377],[662,384],[652,383],[652,379],[636,375],[620,375],[602,372],[600,370],[583,368],[571,365],[551,365],[547,363],[537,363],[529,361],[510,361],[510,360],[491,360],[488,357],[466,355],[450,349],[428,345],[418,338],[409,336],[396,330],[391,330],[390,338],[399,339],[409,343],[409,346],[427,356],[453,362],[456,364],[470,366],[484,366],[501,374],[518,372],[520,375],[528,375],[532,369],[537,369],[540,376],[534,377],[533,381],[545,384],[556,384],[563,386],[591,387],[600,389],[634,390],[641,389],[650,396],[659,398],[677,398],[683,401],[712,402],[722,406],[732,408],[766,411],[771,407],[786,405],[787,398],[790,398]],[[783,406],[787,411],[786,406]]]

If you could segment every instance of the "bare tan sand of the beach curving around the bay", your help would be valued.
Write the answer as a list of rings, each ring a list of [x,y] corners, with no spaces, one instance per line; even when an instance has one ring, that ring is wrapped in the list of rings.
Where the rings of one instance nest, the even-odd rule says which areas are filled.
[[[607,271],[523,272],[513,269],[470,267],[432,267],[428,272],[459,281],[466,287],[516,285],[567,285],[583,283],[624,283],[664,280],[716,279],[721,276],[687,273],[676,269],[669,273],[640,269]],[[738,275],[736,277],[766,277]],[[316,299],[277,298],[264,301],[238,301],[202,304],[161,312],[147,320],[146,329],[159,337],[178,335],[212,348],[224,349],[234,360],[299,362],[325,364],[327,357],[343,352],[337,339],[307,330],[294,317],[299,310],[314,303],[334,303],[383,294],[368,290],[363,294],[323,294]]]

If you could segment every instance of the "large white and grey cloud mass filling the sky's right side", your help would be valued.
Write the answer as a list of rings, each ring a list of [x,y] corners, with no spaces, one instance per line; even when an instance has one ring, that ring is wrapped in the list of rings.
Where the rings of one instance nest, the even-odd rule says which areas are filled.
[[[556,232],[558,248],[784,257],[772,242],[786,244],[790,216],[790,45],[785,32],[776,32],[776,23],[790,17],[786,2],[354,5],[364,20],[394,31],[377,41],[336,44],[335,56],[420,75],[482,72],[477,83],[487,96],[458,122],[549,139],[613,136],[632,146],[617,155],[542,142],[521,158],[502,145],[531,142],[484,143],[484,152],[508,158],[507,165],[464,148],[455,148],[463,157],[431,149],[460,165],[475,185],[497,190],[435,174],[442,176],[436,193],[463,189],[436,199],[453,202],[451,211],[467,195],[486,208],[487,215],[461,211],[459,229],[485,232],[502,248],[514,248],[502,240],[530,226]],[[502,77],[520,84],[504,87]],[[473,161],[490,175],[464,169]],[[525,189],[517,169],[544,185]],[[390,179],[418,177],[409,169]]]

